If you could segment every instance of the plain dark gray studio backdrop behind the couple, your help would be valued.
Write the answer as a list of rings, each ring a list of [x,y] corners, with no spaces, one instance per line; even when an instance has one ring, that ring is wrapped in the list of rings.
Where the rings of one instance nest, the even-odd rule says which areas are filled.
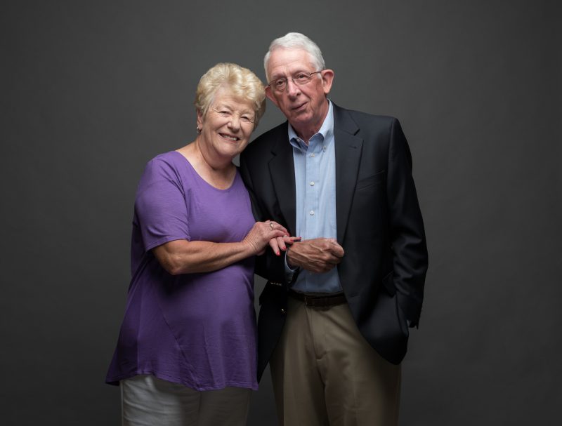
[[[4,1],[0,23],[1,424],[119,424],[103,379],[141,171],[195,138],[209,67],[264,78],[289,31],[322,48],[334,102],[398,117],[412,148],[430,269],[400,424],[559,418],[556,1]],[[281,120],[269,103],[256,133]],[[249,425],[275,424],[267,375]]]

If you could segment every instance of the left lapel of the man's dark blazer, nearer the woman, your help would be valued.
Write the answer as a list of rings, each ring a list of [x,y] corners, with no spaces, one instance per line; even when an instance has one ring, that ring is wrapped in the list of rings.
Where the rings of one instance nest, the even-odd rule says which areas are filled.
[[[289,234],[296,232],[296,192],[294,188],[293,149],[287,136],[287,125],[280,127],[277,142],[271,149],[269,172],[279,207],[285,218]]]

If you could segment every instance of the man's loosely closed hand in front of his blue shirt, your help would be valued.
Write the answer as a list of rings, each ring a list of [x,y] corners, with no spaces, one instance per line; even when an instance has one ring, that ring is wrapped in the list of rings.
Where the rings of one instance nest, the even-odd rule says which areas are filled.
[[[315,238],[295,242],[287,251],[290,267],[301,267],[310,272],[328,272],[344,257],[344,248],[333,238]]]

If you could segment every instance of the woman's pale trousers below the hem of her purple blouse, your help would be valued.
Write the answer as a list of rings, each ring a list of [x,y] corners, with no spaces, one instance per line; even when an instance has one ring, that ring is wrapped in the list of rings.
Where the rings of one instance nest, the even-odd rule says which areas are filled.
[[[119,385],[123,426],[246,425],[250,389],[197,391],[145,374]]]

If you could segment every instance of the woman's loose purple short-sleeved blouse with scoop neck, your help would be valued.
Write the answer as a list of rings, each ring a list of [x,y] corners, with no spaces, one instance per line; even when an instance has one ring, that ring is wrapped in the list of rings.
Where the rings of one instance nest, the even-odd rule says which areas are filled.
[[[131,284],[106,382],[138,374],[195,390],[256,390],[254,258],[173,276],[151,248],[173,241],[241,241],[254,225],[240,173],[216,189],[179,152],[148,162],[138,184]]]

